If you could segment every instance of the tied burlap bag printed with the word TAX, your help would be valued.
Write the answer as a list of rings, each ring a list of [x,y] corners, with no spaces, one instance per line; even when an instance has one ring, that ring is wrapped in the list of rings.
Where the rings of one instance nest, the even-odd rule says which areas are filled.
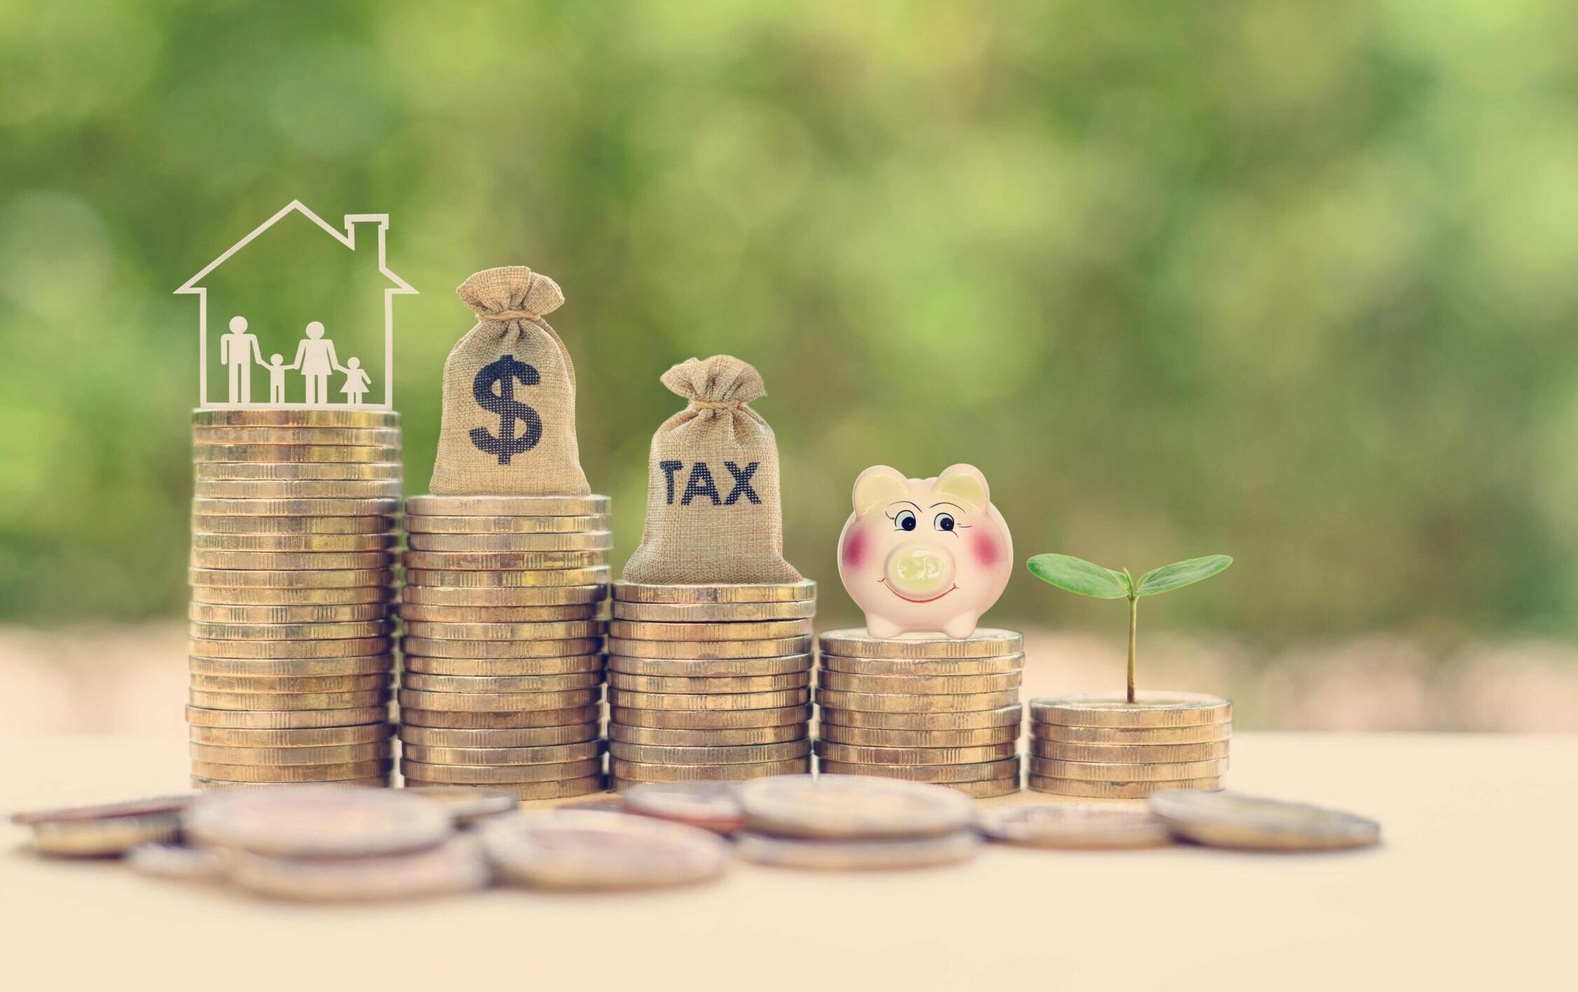
[[[778,442],[746,404],[767,396],[754,367],[729,355],[663,374],[688,405],[652,435],[647,527],[626,582],[798,582],[784,561]]]

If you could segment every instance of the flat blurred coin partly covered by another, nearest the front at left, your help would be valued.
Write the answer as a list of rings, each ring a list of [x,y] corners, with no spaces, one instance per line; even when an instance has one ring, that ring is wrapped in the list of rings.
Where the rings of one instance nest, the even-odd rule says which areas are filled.
[[[437,804],[428,804],[442,812]],[[369,902],[469,893],[484,888],[491,874],[477,837],[459,836],[428,850],[376,858],[297,860],[237,853],[230,858],[229,877],[241,888],[278,899]]]

